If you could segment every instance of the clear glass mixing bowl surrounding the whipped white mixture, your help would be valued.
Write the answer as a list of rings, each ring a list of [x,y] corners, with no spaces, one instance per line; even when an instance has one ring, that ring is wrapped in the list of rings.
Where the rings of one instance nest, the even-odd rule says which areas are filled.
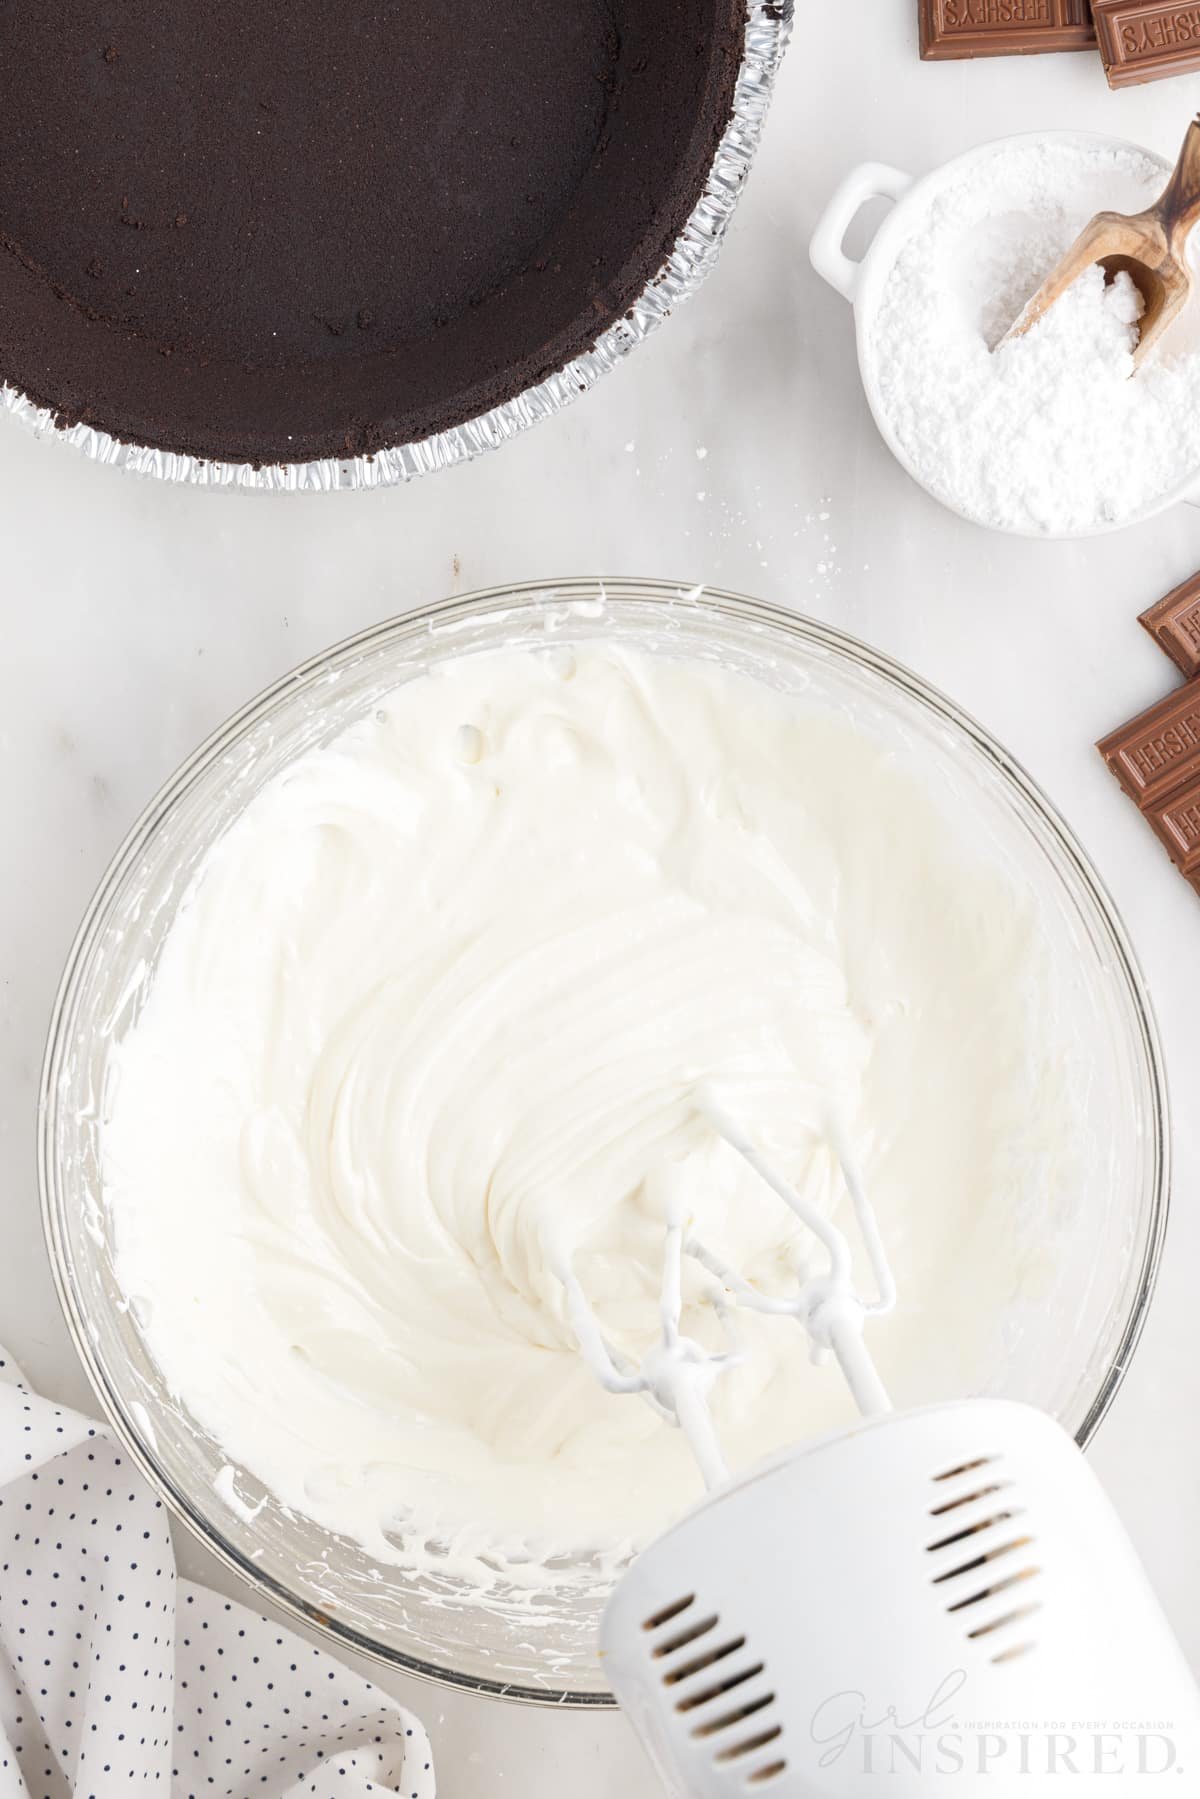
[[[279,768],[336,736],[390,687],[446,657],[617,637],[757,675],[801,707],[835,709],[919,761],[946,829],[1009,871],[1036,905],[1056,1018],[1087,1119],[1087,1168],[1060,1216],[1033,1222],[1056,1272],[1029,1295],[986,1391],[1042,1405],[1081,1443],[1128,1365],[1168,1209],[1168,1112],[1146,991],[1124,930],[1070,831],[1029,777],[941,694],[864,644],[777,606],[657,581],[560,581],[425,606],[277,682],[218,730],[148,806],[83,921],[54,1007],[41,1083],[45,1229],[79,1355],[117,1434],[175,1515],[266,1598],[417,1675],[547,1704],[604,1705],[603,1596],[495,1596],[380,1569],[286,1511],[248,1475],[218,1495],[218,1441],[173,1400],[113,1277],[101,1187],[110,1049],[137,1016],[175,910],[212,842]]]

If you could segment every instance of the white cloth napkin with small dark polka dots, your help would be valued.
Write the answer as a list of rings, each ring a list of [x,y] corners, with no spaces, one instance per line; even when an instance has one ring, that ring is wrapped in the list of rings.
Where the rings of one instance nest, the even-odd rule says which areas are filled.
[[[425,1731],[176,1580],[162,1504],[0,1349],[0,1799],[434,1799]]]

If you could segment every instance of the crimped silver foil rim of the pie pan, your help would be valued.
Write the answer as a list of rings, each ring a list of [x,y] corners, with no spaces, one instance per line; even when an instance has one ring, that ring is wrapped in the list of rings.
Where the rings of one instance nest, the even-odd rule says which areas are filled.
[[[738,70],[734,106],[712,158],[703,192],[696,201],[671,255],[633,302],[628,315],[556,374],[527,387],[515,399],[493,407],[453,430],[419,443],[394,444],[374,455],[318,457],[313,462],[263,464],[210,462],[176,450],[151,450],[122,443],[90,425],[58,426],[47,407],[34,405],[18,389],[0,385],[0,405],[38,435],[61,437],[94,462],[124,468],[158,480],[182,480],[196,488],[254,488],[268,493],[313,493],[333,488],[392,488],[396,482],[430,475],[434,470],[468,462],[495,450],[509,437],[561,412],[635,349],[682,302],[689,300],[714,266],[721,239],[741,194],[763,135],[766,108],[783,52],[792,32],[793,0],[747,0],[747,32]]]

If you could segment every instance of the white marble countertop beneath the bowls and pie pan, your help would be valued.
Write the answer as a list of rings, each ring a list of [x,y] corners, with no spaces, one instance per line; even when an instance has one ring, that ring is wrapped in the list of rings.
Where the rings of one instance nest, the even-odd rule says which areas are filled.
[[[38,1063],[95,880],[203,734],[299,658],[441,594],[601,570],[761,594],[878,642],[973,711],[1067,813],[1130,925],[1173,1081],[1175,1216],[1094,1454],[1200,1668],[1200,901],[1090,748],[1169,685],[1133,621],[1200,563],[1200,516],[1027,543],[941,511],[878,441],[847,309],[804,255],[853,162],[919,171],[1056,126],[1173,153],[1200,79],[1110,94],[1090,56],[921,65],[916,0],[828,11],[858,23],[835,31],[799,0],[714,279],[594,394],[500,453],[390,493],[259,498],[139,482],[0,421],[0,1337],[43,1391],[90,1403],[38,1223]],[[182,1551],[189,1572],[228,1580]],[[389,1684],[428,1718],[452,1799],[540,1799],[567,1781],[574,1799],[655,1790],[615,1716]]]

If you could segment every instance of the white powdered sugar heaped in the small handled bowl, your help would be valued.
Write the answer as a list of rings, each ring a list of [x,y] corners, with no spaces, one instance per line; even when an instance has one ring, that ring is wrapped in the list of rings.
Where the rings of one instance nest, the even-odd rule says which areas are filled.
[[[1162,189],[1135,151],[995,146],[941,187],[885,282],[865,347],[914,475],[1011,531],[1130,520],[1200,471],[1200,349],[1191,320],[1133,374],[1141,299],[1088,270],[1025,336],[995,347],[1101,207]]]

